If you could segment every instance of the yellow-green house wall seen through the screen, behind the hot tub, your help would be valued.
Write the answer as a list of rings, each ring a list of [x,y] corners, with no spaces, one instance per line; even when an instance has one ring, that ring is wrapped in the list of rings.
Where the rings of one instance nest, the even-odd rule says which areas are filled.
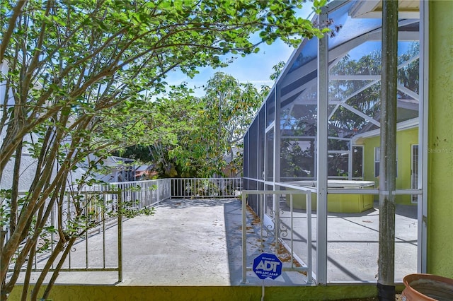
[[[398,147],[398,177],[396,177],[396,188],[411,188],[411,148],[418,144],[418,128],[406,129],[396,133],[396,146]],[[374,177],[374,148],[380,145],[380,137],[364,138],[357,141],[357,145],[363,145],[364,151],[364,179],[365,181],[376,182],[379,186],[379,179]],[[375,196],[379,199],[379,196]],[[410,204],[411,196],[396,196],[397,203]]]

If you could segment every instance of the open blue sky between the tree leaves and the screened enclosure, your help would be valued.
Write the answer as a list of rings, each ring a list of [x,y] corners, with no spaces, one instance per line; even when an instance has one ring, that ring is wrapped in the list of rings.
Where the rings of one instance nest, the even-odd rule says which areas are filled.
[[[306,18],[312,11],[310,1],[302,7],[302,10],[297,14]],[[309,17],[311,18],[311,16]],[[273,81],[270,81],[269,76],[274,73],[273,66],[278,64],[279,61],[287,61],[294,51],[294,47],[285,45],[280,40],[277,40],[273,45],[267,45],[263,43],[259,46],[260,52],[256,54],[248,54],[246,57],[234,56],[236,59],[229,64],[226,68],[212,69],[210,67],[200,68],[195,78],[188,78],[183,73],[178,71],[171,72],[166,78],[166,82],[169,85],[178,85],[183,81],[188,83],[190,88],[201,87],[205,85],[207,81],[214,76],[216,72],[223,72],[234,76],[241,83],[253,83],[256,88],[260,88],[261,85],[272,86]],[[229,57],[226,58],[230,58]],[[204,95],[202,88],[195,90],[196,96]]]

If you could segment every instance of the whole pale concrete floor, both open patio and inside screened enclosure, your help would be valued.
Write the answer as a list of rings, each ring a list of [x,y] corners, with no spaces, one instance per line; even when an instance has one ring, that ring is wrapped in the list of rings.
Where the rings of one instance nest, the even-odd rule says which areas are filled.
[[[403,210],[403,211],[400,211]],[[413,208],[397,211],[396,277],[415,271],[416,216]],[[289,208],[283,208],[282,221],[289,223]],[[415,211],[416,213],[416,211]],[[304,259],[306,223],[304,211],[294,211],[294,250]],[[248,266],[260,254],[259,225],[247,213]],[[316,215],[312,225],[312,249],[316,266]],[[299,222],[297,222],[299,220]],[[365,213],[335,213],[328,217],[328,277],[334,282],[372,282],[377,273],[376,209]],[[242,220],[238,199],[170,199],[156,207],[154,216],[138,216],[122,223],[123,281],[117,272],[62,272],[59,284],[231,286],[262,285],[253,271],[242,283]],[[415,228],[414,228],[415,227]],[[414,231],[415,229],[415,231]],[[89,266],[102,265],[103,235],[89,238]],[[415,237],[415,240],[414,240]],[[264,241],[265,252],[271,244]],[[305,245],[304,245],[305,244]],[[117,228],[105,231],[105,266],[115,266]],[[86,244],[82,241],[71,252],[71,264],[86,263]],[[284,263],[285,264],[285,263]],[[314,270],[315,271],[315,270]],[[38,277],[33,275],[33,279]],[[32,283],[33,283],[32,279]],[[402,277],[401,277],[402,279]],[[398,278],[396,278],[398,280]],[[398,281],[397,281],[398,282]],[[297,271],[283,272],[265,285],[306,285],[306,276]]]

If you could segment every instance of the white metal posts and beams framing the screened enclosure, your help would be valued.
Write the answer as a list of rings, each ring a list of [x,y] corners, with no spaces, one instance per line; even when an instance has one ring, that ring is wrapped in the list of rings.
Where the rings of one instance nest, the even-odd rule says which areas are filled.
[[[319,23],[322,23],[323,20],[328,18],[328,11],[332,11],[333,6],[336,7],[343,5],[347,1],[335,1],[332,4],[329,4],[330,7],[323,8],[321,16],[319,16]],[[415,98],[419,102],[419,117],[418,117],[418,128],[419,128],[419,137],[418,137],[418,145],[419,145],[419,177],[418,177],[418,187],[414,189],[396,189],[396,194],[398,195],[407,195],[407,194],[415,194],[418,195],[418,271],[425,272],[426,271],[426,216],[427,216],[427,194],[426,194],[426,187],[428,184],[427,181],[427,174],[428,174],[428,161],[427,161],[427,152],[428,152],[428,2],[427,1],[420,1],[420,95],[416,95],[412,93],[412,91],[408,91],[406,88],[402,87],[401,85],[398,86],[398,90],[402,90],[404,93],[411,95],[411,97]],[[414,20],[402,20],[401,23],[413,23]],[[342,47],[337,47],[336,49],[331,50],[331,56],[339,57],[341,52],[344,52],[345,49],[350,49],[350,45],[360,45],[365,40],[368,40],[369,37],[378,37],[380,36],[380,32],[382,29],[374,30],[373,32],[366,33],[361,37],[357,37],[355,40],[351,40],[346,42]],[[406,37],[408,40],[416,38],[414,33],[406,33]],[[403,37],[404,38],[404,37]],[[294,59],[297,58],[297,55],[302,51],[302,47],[299,47],[297,51],[295,51],[289,62],[292,63]],[[296,88],[293,92],[289,92],[285,95],[280,95],[281,88],[285,88],[289,84],[297,81],[298,78],[301,78],[304,74],[308,74],[311,71],[316,69],[316,64],[318,68],[318,77],[314,78],[313,81],[318,82],[318,100],[315,102],[310,102],[309,104],[318,105],[318,131],[317,136],[315,139],[316,142],[316,166],[315,166],[315,177],[318,182],[318,215],[317,215],[317,235],[318,235],[318,248],[317,248],[317,283],[319,284],[326,284],[327,283],[327,194],[378,194],[377,189],[366,189],[365,192],[363,189],[328,189],[327,187],[327,155],[328,155],[328,148],[327,148],[327,124],[328,124],[328,59],[329,52],[328,52],[328,42],[326,38],[323,38],[319,41],[319,53],[317,61],[312,61],[311,63],[307,64],[303,69],[294,71],[290,76],[284,78],[289,71],[289,66],[291,64],[287,64],[285,69],[280,74],[279,78],[277,79],[277,84],[271,90],[275,97],[275,120],[271,126],[266,128],[266,132],[272,127],[275,133],[275,141],[274,141],[274,180],[272,182],[266,181],[257,181],[257,179],[252,179],[257,182],[262,182],[264,185],[273,186],[276,190],[276,187],[282,186],[282,183],[277,183],[280,180],[280,138],[285,138],[280,136],[280,113],[277,114],[277,110],[280,110],[281,105],[280,103],[284,100],[295,95],[298,93],[297,91],[302,91],[304,87]],[[415,59],[415,58],[413,58]],[[407,64],[403,63],[403,64]],[[401,65],[402,66],[402,65]],[[398,66],[399,67],[399,66]],[[336,76],[338,79],[339,77]],[[313,83],[310,81],[310,84]],[[294,102],[298,102],[302,98],[301,95],[297,97]],[[264,102],[265,103],[265,102]],[[305,103],[305,102],[304,102]],[[345,104],[340,101],[331,101],[331,105],[343,105]],[[349,109],[349,107],[347,107]],[[267,114],[265,114],[267,116]],[[361,115],[362,116],[362,115]],[[363,117],[363,116],[362,116]],[[415,119],[414,119],[415,120]],[[278,122],[277,122],[278,121]],[[372,120],[369,120],[373,122]],[[408,122],[412,123],[413,120],[409,120]],[[402,124],[406,124],[408,122],[403,122]],[[374,121],[374,124],[379,125],[379,122]],[[399,125],[401,126],[401,124]],[[399,129],[398,126],[398,129]],[[278,135],[278,136],[277,136]],[[322,140],[320,137],[323,137]],[[365,137],[365,136],[364,136]],[[297,137],[291,137],[297,138]],[[306,137],[304,137],[306,138]],[[351,149],[352,149],[353,141],[351,141]],[[352,160],[350,160],[351,163]]]

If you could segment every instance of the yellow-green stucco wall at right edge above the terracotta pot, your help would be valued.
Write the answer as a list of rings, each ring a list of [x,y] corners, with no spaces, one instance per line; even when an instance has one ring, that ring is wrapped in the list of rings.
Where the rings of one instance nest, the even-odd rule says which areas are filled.
[[[453,1],[429,1],[428,273],[453,278]]]

